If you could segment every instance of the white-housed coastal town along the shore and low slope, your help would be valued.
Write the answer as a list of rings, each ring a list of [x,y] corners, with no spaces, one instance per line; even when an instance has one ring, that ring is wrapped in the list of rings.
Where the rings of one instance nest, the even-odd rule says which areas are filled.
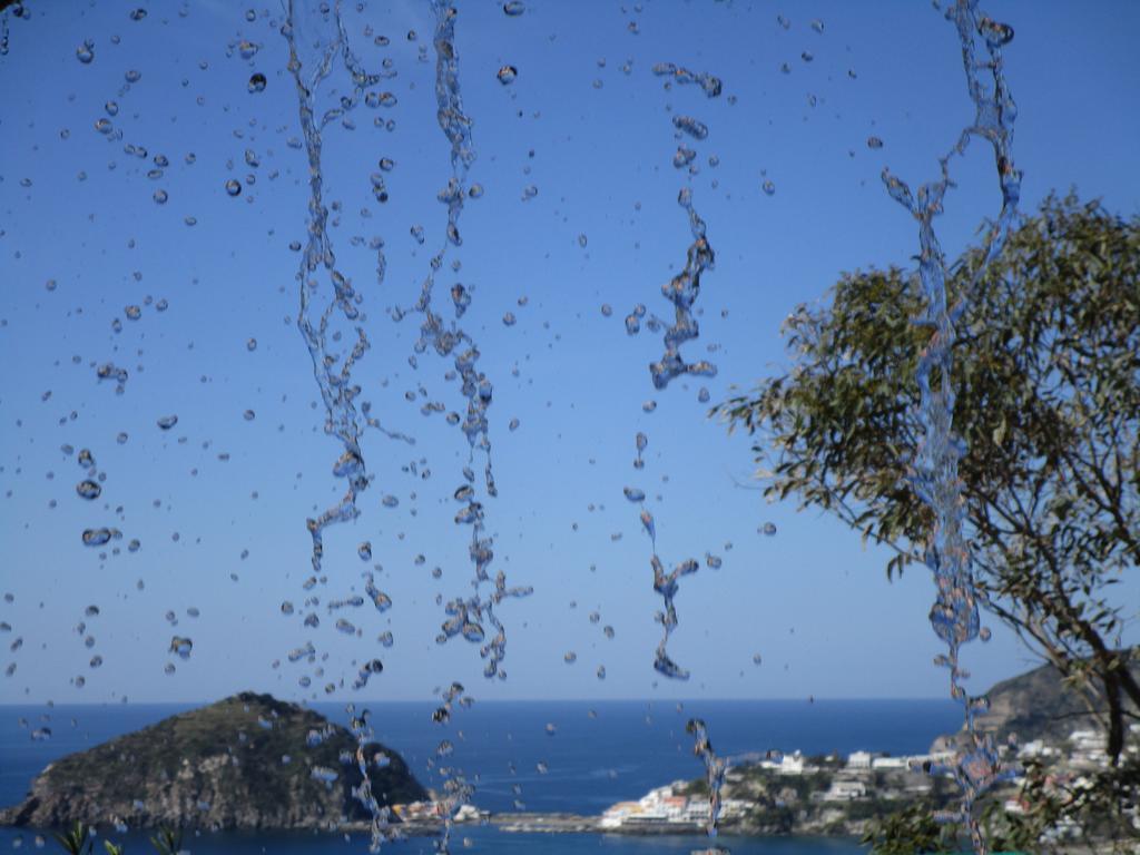
[[[1140,755],[1140,724],[1130,731],[1126,751]],[[1081,785],[1108,767],[1104,733],[1077,728],[1067,738],[1040,738],[1016,749],[1001,747],[1003,762],[1017,767],[1029,759],[1045,765],[1054,785]],[[950,773],[931,767],[954,758],[952,739],[940,738],[921,755],[893,757],[876,751],[853,751],[846,757],[808,757],[800,751],[744,755],[732,759],[722,791],[718,826],[728,834],[858,836],[871,820],[909,804],[948,805],[958,795]],[[1028,808],[1019,791],[1024,779],[1003,783],[997,798],[1008,813]],[[393,812],[408,830],[439,822],[441,807],[432,801],[397,805]],[[562,813],[490,814],[464,805],[457,823],[481,822],[508,832],[602,832],[618,834],[676,834],[706,830],[708,789],[703,780],[674,781],[650,790],[637,800],[619,801],[597,816]],[[1134,820],[1140,830],[1140,814]],[[1076,823],[1054,828],[1051,838],[1080,842],[1085,830]]]

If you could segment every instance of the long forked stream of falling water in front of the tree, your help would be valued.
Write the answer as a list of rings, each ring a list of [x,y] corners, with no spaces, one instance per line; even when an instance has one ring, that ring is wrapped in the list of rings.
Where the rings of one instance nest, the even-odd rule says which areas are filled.
[[[919,358],[921,396],[918,414],[923,437],[909,466],[907,479],[935,514],[934,530],[925,554],[937,587],[937,598],[930,609],[930,625],[947,648],[947,653],[939,656],[936,662],[950,669],[951,695],[962,703],[969,742],[952,765],[933,769],[935,774],[951,773],[962,793],[956,812],[940,812],[936,819],[964,823],[974,850],[985,855],[988,847],[982,837],[974,806],[986,790],[997,781],[1010,777],[1012,772],[1001,768],[993,736],[978,733],[975,727],[977,711],[988,706],[986,699],[970,697],[961,685],[966,674],[959,663],[960,650],[979,634],[978,597],[974,587],[970,549],[963,532],[966,504],[958,474],[958,462],[966,453],[966,442],[953,432],[954,390],[951,386],[954,324],[966,310],[966,300],[962,299],[953,308],[947,306],[946,261],[935,235],[934,218],[942,211],[943,197],[951,186],[950,161],[955,155],[964,154],[974,137],[983,138],[994,152],[1002,206],[986,235],[983,263],[972,274],[977,282],[1001,251],[1009,233],[1017,211],[1021,173],[1013,168],[1010,153],[1017,107],[1005,85],[1001,55],[1001,47],[1013,38],[1013,31],[983,14],[977,0],[956,0],[945,16],[954,24],[961,41],[967,87],[976,108],[974,123],[962,131],[950,152],[940,158],[940,178],[920,186],[917,199],[910,187],[889,171],[883,170],[882,180],[891,198],[919,221],[919,274],[927,309],[915,323],[933,332],[930,343]],[[979,48],[985,51],[984,60],[979,59]],[[988,72],[990,80],[983,72]],[[931,383],[935,368],[938,373],[936,384]]]

